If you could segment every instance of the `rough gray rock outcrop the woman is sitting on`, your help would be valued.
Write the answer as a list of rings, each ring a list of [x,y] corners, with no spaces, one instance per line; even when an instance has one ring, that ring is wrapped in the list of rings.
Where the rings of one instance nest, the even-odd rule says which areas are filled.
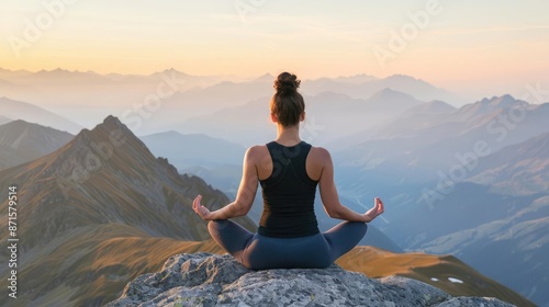
[[[495,298],[451,297],[412,278],[372,280],[337,265],[251,271],[228,254],[178,254],[141,275],[105,306],[513,306]]]

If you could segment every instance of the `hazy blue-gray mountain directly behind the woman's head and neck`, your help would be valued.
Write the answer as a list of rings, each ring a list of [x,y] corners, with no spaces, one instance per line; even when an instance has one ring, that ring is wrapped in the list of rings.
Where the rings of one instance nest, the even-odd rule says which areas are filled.
[[[368,100],[330,91],[304,99],[306,115],[301,124],[302,138],[317,145],[391,121],[396,114],[424,103],[390,89],[381,90]],[[273,138],[276,128],[269,114],[268,99],[258,99],[187,120],[175,129],[205,133],[247,147]]]

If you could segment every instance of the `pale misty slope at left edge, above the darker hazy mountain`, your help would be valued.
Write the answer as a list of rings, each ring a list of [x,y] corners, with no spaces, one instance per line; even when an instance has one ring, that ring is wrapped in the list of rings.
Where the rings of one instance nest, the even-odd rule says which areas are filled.
[[[82,128],[80,125],[40,106],[8,98],[0,98],[0,114],[9,118],[23,120],[69,133],[77,133]]]

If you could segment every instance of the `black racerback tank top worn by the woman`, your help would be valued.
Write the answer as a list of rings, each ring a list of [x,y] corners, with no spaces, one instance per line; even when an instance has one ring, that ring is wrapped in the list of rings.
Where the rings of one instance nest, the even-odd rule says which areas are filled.
[[[272,173],[261,180],[264,213],[258,234],[276,238],[306,237],[318,231],[314,214],[317,181],[309,178],[305,160],[311,145],[305,141],[285,147],[267,144]]]

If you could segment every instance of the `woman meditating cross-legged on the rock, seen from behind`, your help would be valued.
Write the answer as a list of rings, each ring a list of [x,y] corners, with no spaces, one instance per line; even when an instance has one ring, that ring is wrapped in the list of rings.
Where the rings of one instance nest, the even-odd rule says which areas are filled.
[[[200,204],[201,195],[193,202],[194,212],[210,220],[208,229],[214,240],[249,269],[329,266],[362,239],[366,223],[383,213],[380,198],[365,214],[339,203],[329,152],[300,139],[305,103],[299,86],[300,80],[289,72],[274,81],[270,107],[277,138],[246,151],[236,201],[214,212]],[[264,213],[258,232],[253,234],[228,218],[249,212],[258,183]],[[314,214],[316,185],[328,216],[345,220],[326,232],[320,232]]]

